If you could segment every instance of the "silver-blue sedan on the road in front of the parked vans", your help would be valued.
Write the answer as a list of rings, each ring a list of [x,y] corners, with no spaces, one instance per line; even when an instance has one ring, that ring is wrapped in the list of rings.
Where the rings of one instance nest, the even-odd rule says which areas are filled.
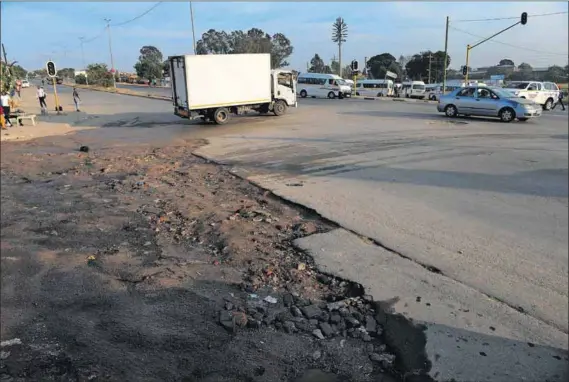
[[[500,88],[481,86],[468,86],[441,96],[437,110],[447,117],[496,117],[502,122],[516,118],[524,122],[541,115],[541,107],[531,100],[515,97]]]

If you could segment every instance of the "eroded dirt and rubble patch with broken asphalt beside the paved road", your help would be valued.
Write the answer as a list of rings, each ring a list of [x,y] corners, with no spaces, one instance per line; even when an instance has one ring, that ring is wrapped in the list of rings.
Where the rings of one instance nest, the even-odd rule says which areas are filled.
[[[331,224],[202,141],[70,139],[2,144],[3,380],[397,380],[371,297],[292,245]]]

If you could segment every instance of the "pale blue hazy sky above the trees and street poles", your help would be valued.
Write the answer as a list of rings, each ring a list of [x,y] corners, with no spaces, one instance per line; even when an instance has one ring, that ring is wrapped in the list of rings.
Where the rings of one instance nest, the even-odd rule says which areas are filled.
[[[128,21],[156,2],[2,2],[1,39],[8,59],[26,69],[45,65],[49,56],[58,68],[82,67],[79,37],[87,63],[110,63],[104,18],[112,24]],[[471,53],[471,66],[495,65],[502,58],[534,67],[567,65],[568,15],[531,17],[567,12],[567,2],[194,2],[196,37],[208,29],[284,33],[294,46],[291,67],[304,71],[315,53],[329,62],[337,55],[331,25],[338,16],[349,26],[343,62],[389,52],[395,57],[422,50],[444,50],[445,17],[450,16],[451,67],[464,64],[466,44],[488,37],[517,20],[464,22],[460,20],[530,15],[517,26]],[[165,57],[190,53],[192,33],[188,2],[164,2],[147,15],[111,27],[115,67],[133,71],[143,45],[158,47]],[[466,33],[465,33],[466,32]],[[470,33],[470,34],[468,34]],[[509,45],[507,45],[509,44]],[[513,45],[513,46],[510,46]],[[110,65],[109,65],[110,66]]]

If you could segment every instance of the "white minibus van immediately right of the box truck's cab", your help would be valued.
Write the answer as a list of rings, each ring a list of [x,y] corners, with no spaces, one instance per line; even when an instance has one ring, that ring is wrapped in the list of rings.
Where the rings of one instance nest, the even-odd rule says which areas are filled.
[[[296,90],[302,98],[344,98],[352,95],[352,89],[342,77],[324,73],[300,74]]]

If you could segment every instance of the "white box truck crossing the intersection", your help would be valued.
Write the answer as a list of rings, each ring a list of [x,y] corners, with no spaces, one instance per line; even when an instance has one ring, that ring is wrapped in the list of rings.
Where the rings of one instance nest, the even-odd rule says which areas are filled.
[[[270,54],[168,57],[174,114],[219,125],[249,111],[280,116],[296,107],[291,71],[271,70]]]

